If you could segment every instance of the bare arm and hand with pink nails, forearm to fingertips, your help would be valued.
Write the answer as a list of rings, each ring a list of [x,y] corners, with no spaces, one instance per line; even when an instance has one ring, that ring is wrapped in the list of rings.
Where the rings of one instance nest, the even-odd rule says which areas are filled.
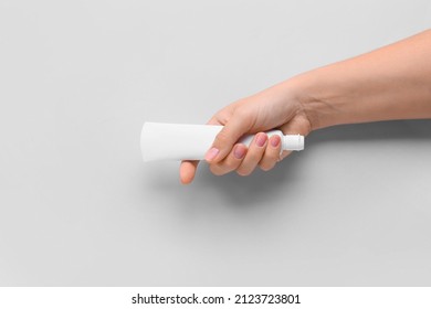
[[[249,175],[269,171],[280,156],[281,129],[307,136],[341,124],[431,118],[431,30],[370,53],[316,68],[219,110],[209,125],[223,125],[206,156],[212,173]],[[250,148],[236,143],[256,134]],[[180,180],[191,183],[198,161],[182,161]]]

